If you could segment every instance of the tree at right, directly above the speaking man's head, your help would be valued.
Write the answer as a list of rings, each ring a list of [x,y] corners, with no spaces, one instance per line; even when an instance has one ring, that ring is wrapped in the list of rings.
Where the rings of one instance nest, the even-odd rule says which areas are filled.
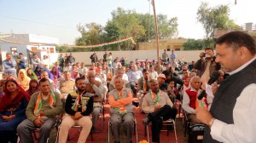
[[[234,20],[230,20],[229,15],[230,8],[228,5],[218,5],[214,8],[209,8],[208,3],[201,3],[197,10],[197,20],[204,27],[207,39],[213,39],[215,28],[239,30],[240,26],[236,25]]]

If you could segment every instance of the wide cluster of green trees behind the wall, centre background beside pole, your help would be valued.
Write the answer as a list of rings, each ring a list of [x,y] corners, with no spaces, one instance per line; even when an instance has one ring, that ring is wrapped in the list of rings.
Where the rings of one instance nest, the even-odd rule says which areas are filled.
[[[112,19],[103,27],[94,22],[77,26],[81,37],[75,39],[76,45],[90,45],[113,42],[125,37],[134,37],[136,42],[146,42],[155,36],[154,16],[149,14],[137,14],[135,10],[118,8],[113,10]],[[160,38],[172,38],[177,33],[177,18],[167,19],[167,16],[157,16]],[[131,41],[108,45],[107,50],[131,50],[135,45]],[[74,50],[81,51],[82,49]],[[67,50],[70,50],[67,49]],[[102,48],[99,48],[102,49]],[[66,49],[60,49],[66,50]],[[84,49],[83,49],[84,50]],[[97,49],[86,49],[97,50]]]

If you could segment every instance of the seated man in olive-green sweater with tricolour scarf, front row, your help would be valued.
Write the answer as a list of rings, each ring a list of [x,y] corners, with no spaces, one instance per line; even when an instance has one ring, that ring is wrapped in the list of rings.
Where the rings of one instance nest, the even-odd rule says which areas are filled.
[[[17,128],[21,142],[33,143],[31,131],[39,129],[38,143],[47,142],[49,132],[54,126],[55,117],[62,112],[60,94],[49,89],[49,80],[42,78],[39,81],[40,92],[32,94],[26,107],[26,117]]]

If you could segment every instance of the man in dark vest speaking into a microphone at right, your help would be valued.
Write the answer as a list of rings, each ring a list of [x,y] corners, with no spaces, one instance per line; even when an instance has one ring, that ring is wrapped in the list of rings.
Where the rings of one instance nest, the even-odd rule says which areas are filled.
[[[216,53],[222,70],[229,73],[214,94],[210,112],[195,110],[201,123],[207,124],[204,142],[256,142],[256,44],[242,31],[231,31],[216,41]]]

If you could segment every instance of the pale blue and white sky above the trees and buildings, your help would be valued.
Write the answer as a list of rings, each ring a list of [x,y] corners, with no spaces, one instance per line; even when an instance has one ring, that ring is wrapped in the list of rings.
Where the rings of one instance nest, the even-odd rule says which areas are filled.
[[[230,18],[236,24],[256,24],[255,0],[203,0],[210,6],[230,5]],[[156,13],[177,17],[178,37],[202,38],[204,31],[196,21],[200,0],[155,0]],[[96,22],[105,26],[118,7],[149,13],[148,0],[0,0],[0,33],[38,34],[73,44],[80,34],[76,26]],[[153,14],[150,5],[150,14]]]

